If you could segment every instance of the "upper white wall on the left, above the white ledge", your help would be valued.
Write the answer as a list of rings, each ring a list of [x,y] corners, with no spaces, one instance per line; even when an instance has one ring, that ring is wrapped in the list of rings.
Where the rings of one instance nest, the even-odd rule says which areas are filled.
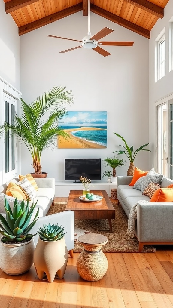
[[[0,1],[0,76],[20,90],[20,37],[3,1]]]

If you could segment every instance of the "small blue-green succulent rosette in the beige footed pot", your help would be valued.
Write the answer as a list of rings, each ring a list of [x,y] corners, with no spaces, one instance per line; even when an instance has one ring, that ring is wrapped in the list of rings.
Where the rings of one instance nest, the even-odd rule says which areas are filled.
[[[38,228],[38,234],[43,241],[58,241],[61,240],[64,235],[64,227],[57,225],[43,225]]]

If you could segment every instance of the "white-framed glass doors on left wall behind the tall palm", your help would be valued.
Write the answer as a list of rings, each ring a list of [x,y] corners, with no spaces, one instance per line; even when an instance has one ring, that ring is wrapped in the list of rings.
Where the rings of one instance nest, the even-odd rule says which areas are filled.
[[[4,93],[3,104],[4,121],[14,124],[14,117],[17,113],[17,101]],[[3,177],[4,180],[8,180],[17,172],[17,143],[14,134],[10,131],[5,132],[3,144]]]

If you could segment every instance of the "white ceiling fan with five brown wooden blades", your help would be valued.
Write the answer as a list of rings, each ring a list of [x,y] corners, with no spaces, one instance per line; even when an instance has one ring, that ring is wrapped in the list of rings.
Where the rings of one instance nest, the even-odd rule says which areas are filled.
[[[105,27],[101,31],[96,33],[94,36],[91,35],[91,32],[90,32],[90,1],[88,0],[88,34],[86,36],[84,36],[82,41],[81,40],[75,40],[75,39],[67,39],[69,41],[75,41],[75,42],[82,43],[82,44],[80,46],[77,46],[77,47],[74,47],[74,48],[70,48],[70,49],[60,51],[60,53],[84,47],[84,48],[88,48],[88,49],[93,49],[93,50],[97,51],[100,55],[103,55],[104,57],[106,57],[106,56],[111,55],[111,54],[108,51],[104,50],[103,48],[100,48],[99,45],[102,45],[102,46],[133,46],[134,42],[107,42],[107,41],[105,41],[105,42],[99,41],[98,42],[98,40],[102,39],[107,34],[110,34],[113,31],[114,30]],[[54,36],[54,35],[48,35],[48,36],[53,37],[53,38],[57,38],[57,39],[66,39],[66,38],[62,38],[60,36]]]

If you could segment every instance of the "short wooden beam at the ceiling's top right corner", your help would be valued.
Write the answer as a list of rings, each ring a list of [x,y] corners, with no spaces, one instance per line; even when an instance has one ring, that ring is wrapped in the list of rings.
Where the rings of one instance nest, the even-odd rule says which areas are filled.
[[[125,1],[159,18],[163,18],[163,8],[154,3],[151,3],[147,0],[125,0]]]

